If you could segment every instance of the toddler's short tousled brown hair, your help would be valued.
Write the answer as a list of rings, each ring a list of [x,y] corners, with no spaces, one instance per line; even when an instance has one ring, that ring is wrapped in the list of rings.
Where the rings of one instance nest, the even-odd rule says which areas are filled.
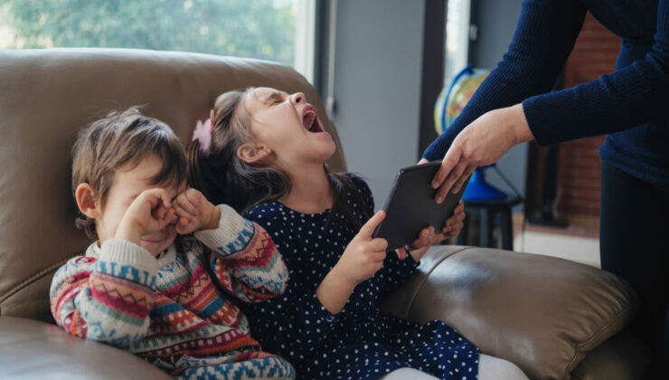
[[[123,166],[137,166],[152,155],[160,159],[163,168],[151,183],[184,183],[187,159],[184,146],[172,129],[158,119],[142,115],[139,107],[110,111],[103,119],[81,129],[72,147],[72,193],[78,185],[89,184],[96,201],[104,207],[115,172]],[[79,214],[76,224],[91,239],[97,238],[94,220]]]

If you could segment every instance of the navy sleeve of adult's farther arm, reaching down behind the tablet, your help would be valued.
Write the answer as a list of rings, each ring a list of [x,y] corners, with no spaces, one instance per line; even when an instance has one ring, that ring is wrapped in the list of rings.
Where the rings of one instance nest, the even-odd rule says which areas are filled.
[[[423,157],[429,161],[442,159],[457,134],[485,112],[551,90],[576,43],[585,14],[586,8],[579,0],[524,1],[502,61]]]

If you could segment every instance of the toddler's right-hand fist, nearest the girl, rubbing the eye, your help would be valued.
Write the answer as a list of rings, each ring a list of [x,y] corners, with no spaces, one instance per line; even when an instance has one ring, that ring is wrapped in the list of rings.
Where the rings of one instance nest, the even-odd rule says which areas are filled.
[[[172,204],[178,217],[176,233],[184,235],[193,231],[209,230],[219,225],[221,211],[195,189],[186,189],[180,195],[176,195]]]

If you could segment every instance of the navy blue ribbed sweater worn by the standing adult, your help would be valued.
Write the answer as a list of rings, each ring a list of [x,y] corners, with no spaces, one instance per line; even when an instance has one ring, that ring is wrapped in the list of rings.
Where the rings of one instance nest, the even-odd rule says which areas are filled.
[[[548,92],[588,10],[622,38],[617,70]],[[669,0],[524,1],[508,52],[423,157],[443,158],[469,123],[519,102],[540,145],[608,134],[599,148],[603,160],[669,186]]]

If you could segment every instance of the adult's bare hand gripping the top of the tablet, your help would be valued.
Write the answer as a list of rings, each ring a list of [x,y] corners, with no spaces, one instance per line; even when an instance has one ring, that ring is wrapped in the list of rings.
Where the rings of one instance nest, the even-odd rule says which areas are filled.
[[[515,144],[533,139],[523,104],[494,109],[466,126],[453,140],[432,179],[438,188],[435,201],[444,201],[448,190],[457,193],[477,166],[495,163]]]

